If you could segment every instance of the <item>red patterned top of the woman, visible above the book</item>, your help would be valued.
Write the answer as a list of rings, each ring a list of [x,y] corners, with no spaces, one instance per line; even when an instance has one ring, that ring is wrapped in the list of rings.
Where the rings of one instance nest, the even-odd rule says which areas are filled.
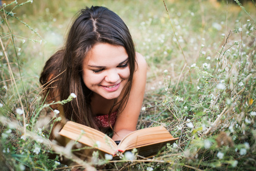
[[[116,114],[117,112],[113,112],[110,114],[110,124],[112,128],[116,123]],[[95,117],[96,124],[99,128],[110,128],[108,123],[108,115],[99,115]]]

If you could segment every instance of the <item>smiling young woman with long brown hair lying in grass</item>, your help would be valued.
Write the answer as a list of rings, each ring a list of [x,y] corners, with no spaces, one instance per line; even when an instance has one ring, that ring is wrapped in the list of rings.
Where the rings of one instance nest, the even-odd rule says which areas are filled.
[[[147,63],[135,52],[123,20],[105,7],[80,11],[65,46],[46,62],[40,76],[47,101],[71,102],[58,108],[67,120],[123,139],[136,130],[146,83]]]

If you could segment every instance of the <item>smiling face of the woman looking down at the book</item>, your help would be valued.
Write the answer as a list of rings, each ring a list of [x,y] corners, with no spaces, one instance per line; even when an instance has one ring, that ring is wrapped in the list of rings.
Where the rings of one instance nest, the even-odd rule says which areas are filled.
[[[84,84],[105,99],[119,97],[129,75],[128,54],[123,46],[96,44],[83,61]]]

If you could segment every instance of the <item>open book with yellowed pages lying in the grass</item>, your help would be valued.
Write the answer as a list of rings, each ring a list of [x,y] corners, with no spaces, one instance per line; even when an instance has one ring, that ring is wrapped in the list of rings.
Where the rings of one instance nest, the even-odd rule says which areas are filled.
[[[72,121],[68,121],[64,125],[59,135],[94,147],[113,156],[117,152],[125,152],[133,148],[138,149],[141,156],[152,156],[157,154],[162,146],[165,146],[167,143],[173,144],[178,139],[173,138],[164,127],[160,126],[131,132],[124,137],[119,145],[116,145],[115,141],[104,133]]]

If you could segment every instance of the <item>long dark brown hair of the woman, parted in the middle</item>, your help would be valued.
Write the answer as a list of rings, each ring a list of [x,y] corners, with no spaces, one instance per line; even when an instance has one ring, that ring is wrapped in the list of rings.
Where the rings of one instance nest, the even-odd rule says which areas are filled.
[[[62,63],[59,72],[63,74],[58,79],[58,92],[60,100],[67,99],[71,93],[77,96],[70,103],[63,105],[64,116],[68,120],[96,129],[98,128],[90,105],[92,91],[83,82],[82,64],[87,53],[97,43],[123,46],[128,54],[130,76],[124,88],[124,97],[120,101],[115,100],[113,106],[118,105],[119,109],[123,109],[127,104],[136,68],[135,47],[123,20],[106,7],[92,6],[81,10],[70,28],[63,50],[59,51],[62,53],[62,56],[59,56],[59,61]],[[56,54],[53,56],[58,56]],[[42,78],[46,77],[43,73],[44,71],[40,80],[46,80]]]

